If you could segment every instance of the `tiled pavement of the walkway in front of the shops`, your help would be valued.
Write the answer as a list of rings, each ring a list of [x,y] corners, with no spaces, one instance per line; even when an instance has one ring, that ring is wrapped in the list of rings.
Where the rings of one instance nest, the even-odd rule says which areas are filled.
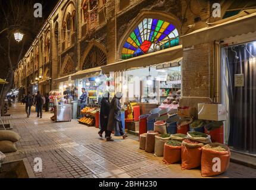
[[[126,140],[114,137],[106,142],[98,137],[98,129],[71,122],[52,122],[51,113],[43,119],[26,118],[24,105],[14,104],[11,116],[2,117],[21,136],[16,153],[5,161],[26,158],[31,167],[40,157],[42,172],[36,178],[201,178],[199,169],[181,170],[180,164],[166,165],[161,157],[139,150],[138,137]],[[229,170],[218,178],[256,178],[256,170],[230,163]]]

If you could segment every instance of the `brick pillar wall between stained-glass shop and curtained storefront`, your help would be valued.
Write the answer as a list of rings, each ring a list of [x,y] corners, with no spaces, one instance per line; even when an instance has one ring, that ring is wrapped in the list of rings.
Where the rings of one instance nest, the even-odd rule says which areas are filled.
[[[210,97],[213,70],[213,43],[196,45],[183,52],[182,96]]]

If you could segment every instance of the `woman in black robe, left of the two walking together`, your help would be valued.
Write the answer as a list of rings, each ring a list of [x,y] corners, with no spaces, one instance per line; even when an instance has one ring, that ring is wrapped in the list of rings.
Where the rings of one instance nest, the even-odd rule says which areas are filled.
[[[110,115],[110,93],[105,93],[101,100],[101,110],[99,112],[101,131],[98,132],[99,137],[102,137],[103,132],[105,132],[105,138],[107,138],[107,126],[108,126],[108,116]]]

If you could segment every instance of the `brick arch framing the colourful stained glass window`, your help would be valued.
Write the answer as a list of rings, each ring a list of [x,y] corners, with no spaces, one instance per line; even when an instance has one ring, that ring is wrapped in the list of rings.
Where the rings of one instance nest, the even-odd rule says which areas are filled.
[[[139,15],[133,20],[132,24],[128,27],[129,29],[125,31],[125,33],[122,35],[118,46],[117,46],[117,58],[121,58],[121,52],[124,46],[124,43],[126,42],[127,38],[129,37],[130,33],[132,33],[133,30],[143,21],[145,18],[155,18],[163,21],[168,21],[168,23],[173,24],[178,33],[181,35],[181,29],[182,24],[175,15],[173,14],[166,14],[161,11],[142,11],[139,13]]]

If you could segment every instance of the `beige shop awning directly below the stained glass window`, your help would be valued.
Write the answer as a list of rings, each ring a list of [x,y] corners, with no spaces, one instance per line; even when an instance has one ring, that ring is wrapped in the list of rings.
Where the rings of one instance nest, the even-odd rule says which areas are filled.
[[[125,71],[130,68],[138,68],[150,66],[155,64],[163,64],[175,59],[181,58],[183,55],[182,45],[170,47],[168,49],[160,50],[158,52],[148,53],[146,55],[138,56],[136,58],[126,59],[124,61],[115,62],[102,66],[102,73],[108,74],[113,71]]]

